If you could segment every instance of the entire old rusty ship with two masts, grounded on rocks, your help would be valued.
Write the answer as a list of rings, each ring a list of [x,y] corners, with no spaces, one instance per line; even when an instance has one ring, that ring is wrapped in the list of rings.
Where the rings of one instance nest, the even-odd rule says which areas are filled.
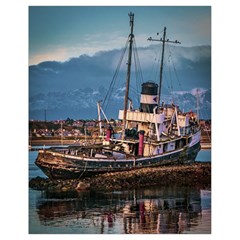
[[[166,39],[166,27],[160,41],[162,56],[159,85],[142,83],[140,105],[133,109],[129,98],[131,76],[134,14],[129,13],[128,63],[124,109],[119,110],[122,123],[115,134],[110,124],[97,143],[75,144],[39,150],[35,164],[51,179],[76,179],[97,174],[188,164],[195,161],[200,150],[201,129],[196,113],[183,112],[175,104],[160,103],[165,43],[180,43]],[[100,116],[101,106],[98,103]],[[100,133],[102,134],[99,117]]]

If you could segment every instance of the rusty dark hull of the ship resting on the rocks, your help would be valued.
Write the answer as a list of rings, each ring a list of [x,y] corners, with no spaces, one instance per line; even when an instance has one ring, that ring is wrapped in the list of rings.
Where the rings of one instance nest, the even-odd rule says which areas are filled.
[[[132,159],[81,158],[46,149],[39,151],[35,164],[50,179],[77,179],[103,173],[131,171],[161,165],[189,164],[195,161],[200,149],[200,142],[198,142],[193,146],[166,154]]]

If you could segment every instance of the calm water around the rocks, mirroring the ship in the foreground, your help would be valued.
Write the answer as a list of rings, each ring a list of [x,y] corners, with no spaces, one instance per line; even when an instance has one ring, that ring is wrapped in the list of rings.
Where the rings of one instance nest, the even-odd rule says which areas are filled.
[[[45,175],[29,152],[29,178]],[[211,161],[202,150],[198,161]],[[97,193],[29,190],[29,233],[211,233],[211,189],[151,187]]]

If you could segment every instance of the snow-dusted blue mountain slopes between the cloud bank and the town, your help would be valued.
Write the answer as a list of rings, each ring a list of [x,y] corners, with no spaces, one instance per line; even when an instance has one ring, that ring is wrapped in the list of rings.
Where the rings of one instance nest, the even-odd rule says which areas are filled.
[[[91,88],[76,89],[69,92],[48,92],[34,95],[30,98],[30,119],[96,119],[97,102],[103,100],[106,89],[94,90]],[[105,109],[108,118],[117,118],[118,110],[123,109],[123,97],[120,95],[123,89],[117,89],[112,93],[112,98]],[[199,111],[200,118],[211,118],[211,90],[199,90],[190,92],[174,92],[162,95],[162,100],[171,104],[174,103],[187,111]],[[139,97],[133,98],[133,106],[139,108]],[[46,112],[45,112],[46,110]]]

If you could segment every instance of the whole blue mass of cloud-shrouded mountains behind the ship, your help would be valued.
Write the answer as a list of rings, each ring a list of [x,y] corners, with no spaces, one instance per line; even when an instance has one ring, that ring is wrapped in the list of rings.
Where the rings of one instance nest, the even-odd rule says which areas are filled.
[[[143,77],[136,80],[139,73],[133,63],[130,98],[134,108],[139,107],[141,83],[159,81],[159,48],[142,47],[134,55],[139,57]],[[29,118],[96,119],[97,102],[105,99],[121,53],[122,49],[114,49],[65,62],[46,61],[29,66]],[[112,97],[105,110],[108,118],[116,119],[118,109],[123,108],[126,63],[123,58],[111,89]],[[176,103],[184,111],[199,110],[200,118],[211,118],[210,46],[166,47],[161,99]]]

